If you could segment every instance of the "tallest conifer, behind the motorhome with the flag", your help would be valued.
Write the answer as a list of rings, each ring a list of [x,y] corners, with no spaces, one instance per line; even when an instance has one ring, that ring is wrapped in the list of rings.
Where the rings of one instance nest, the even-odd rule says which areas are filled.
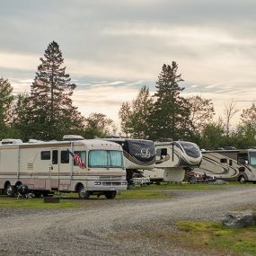
[[[71,100],[76,85],[70,82],[66,74],[64,58],[57,42],[49,44],[40,61],[31,85],[31,136],[41,139],[60,138],[82,124],[81,115]]]

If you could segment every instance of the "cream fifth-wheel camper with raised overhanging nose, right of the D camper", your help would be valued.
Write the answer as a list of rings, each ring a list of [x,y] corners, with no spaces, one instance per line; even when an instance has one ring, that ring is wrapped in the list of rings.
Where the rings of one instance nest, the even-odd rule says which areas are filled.
[[[153,170],[144,174],[151,181],[182,181],[185,170],[199,167],[202,154],[199,146],[188,141],[157,141],[156,161]]]

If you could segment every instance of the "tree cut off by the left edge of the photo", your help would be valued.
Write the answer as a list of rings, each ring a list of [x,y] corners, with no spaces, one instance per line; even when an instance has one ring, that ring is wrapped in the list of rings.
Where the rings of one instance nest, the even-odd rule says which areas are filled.
[[[12,121],[13,87],[8,80],[0,78],[0,137],[4,134]]]

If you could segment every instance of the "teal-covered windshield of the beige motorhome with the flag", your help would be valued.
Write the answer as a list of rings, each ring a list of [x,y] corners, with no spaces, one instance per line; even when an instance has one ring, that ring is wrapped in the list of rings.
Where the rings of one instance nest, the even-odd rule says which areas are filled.
[[[91,150],[89,152],[89,167],[124,167],[123,154],[117,150]]]

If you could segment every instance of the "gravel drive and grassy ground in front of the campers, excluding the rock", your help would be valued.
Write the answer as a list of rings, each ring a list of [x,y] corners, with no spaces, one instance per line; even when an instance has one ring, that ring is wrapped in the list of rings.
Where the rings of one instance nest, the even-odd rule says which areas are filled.
[[[256,255],[253,227],[221,225],[229,210],[256,210],[255,195],[254,185],[234,182],[137,186],[114,200],[55,195],[60,200],[52,204],[0,196],[0,252]]]

